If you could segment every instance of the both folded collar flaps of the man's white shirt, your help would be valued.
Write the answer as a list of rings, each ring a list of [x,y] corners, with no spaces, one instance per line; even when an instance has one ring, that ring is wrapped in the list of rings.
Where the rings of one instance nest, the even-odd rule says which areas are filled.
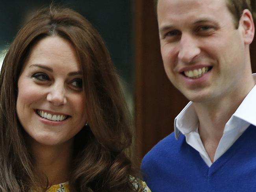
[[[256,82],[256,73],[252,74]],[[245,120],[256,126],[256,85],[250,90],[243,102],[239,105],[232,116]],[[192,105],[193,102],[187,103],[186,107],[176,116],[174,120],[175,138],[178,140],[180,133],[183,135],[194,131],[198,128],[198,117]]]

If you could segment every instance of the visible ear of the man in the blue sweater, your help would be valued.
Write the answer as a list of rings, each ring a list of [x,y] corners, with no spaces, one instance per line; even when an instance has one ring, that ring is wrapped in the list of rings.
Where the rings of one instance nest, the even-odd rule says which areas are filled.
[[[254,22],[252,18],[252,13],[248,9],[243,10],[243,13],[239,20],[239,28],[243,30],[243,38],[245,44],[250,44],[254,37]]]

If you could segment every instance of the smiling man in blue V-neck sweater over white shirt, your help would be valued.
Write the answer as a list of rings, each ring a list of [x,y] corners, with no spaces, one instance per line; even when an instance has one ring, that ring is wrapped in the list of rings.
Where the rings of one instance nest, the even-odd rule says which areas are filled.
[[[158,0],[165,72],[191,102],[144,158],[152,192],[256,191],[249,0]]]

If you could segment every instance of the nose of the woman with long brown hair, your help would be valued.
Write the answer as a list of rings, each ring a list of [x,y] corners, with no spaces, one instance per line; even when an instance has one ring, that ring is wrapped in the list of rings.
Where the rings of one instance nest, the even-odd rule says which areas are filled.
[[[67,98],[65,96],[65,87],[61,83],[55,83],[49,87],[49,92],[46,96],[46,100],[53,105],[63,105],[67,103]]]

